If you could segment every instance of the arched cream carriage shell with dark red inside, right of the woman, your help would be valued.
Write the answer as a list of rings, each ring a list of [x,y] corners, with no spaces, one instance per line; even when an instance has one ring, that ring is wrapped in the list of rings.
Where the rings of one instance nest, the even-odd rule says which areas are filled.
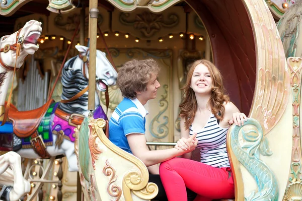
[[[248,120],[243,128],[230,127],[228,135],[235,197],[237,200],[244,197],[248,200],[281,200],[287,182],[287,175],[283,172],[289,172],[290,165],[274,164],[275,161],[289,161],[292,139],[284,133],[292,129],[292,114],[286,110],[291,103],[288,102],[289,80],[284,51],[266,2],[186,2],[207,30],[213,62],[222,74],[231,100],[244,113],[250,113],[251,121]],[[256,125],[257,121],[252,119],[261,125]],[[255,136],[250,138],[252,133]],[[242,139],[245,140],[242,142]],[[271,156],[264,150],[258,152],[261,148],[269,150],[265,142],[270,143]],[[261,158],[261,155],[270,157]],[[269,175],[269,178],[260,173]]]

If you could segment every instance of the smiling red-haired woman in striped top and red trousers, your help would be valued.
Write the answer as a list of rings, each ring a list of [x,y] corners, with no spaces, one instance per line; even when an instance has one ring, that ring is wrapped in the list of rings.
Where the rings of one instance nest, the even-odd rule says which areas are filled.
[[[185,200],[186,188],[197,200],[234,198],[235,187],[226,151],[230,124],[243,124],[245,114],[224,94],[222,77],[213,63],[196,60],[187,75],[184,100],[180,104],[181,136],[176,148],[189,148],[189,137],[196,135],[200,162],[187,160],[192,152],[161,163],[160,176],[169,200]],[[193,177],[192,177],[193,175]],[[219,189],[219,190],[217,190]]]

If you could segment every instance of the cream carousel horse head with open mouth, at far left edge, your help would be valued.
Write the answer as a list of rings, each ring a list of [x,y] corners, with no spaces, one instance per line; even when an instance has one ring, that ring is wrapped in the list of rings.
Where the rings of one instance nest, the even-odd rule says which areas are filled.
[[[41,35],[41,22],[31,20],[27,22],[19,31],[3,36],[0,39],[0,64],[3,68],[12,70],[16,62],[17,44],[20,44],[20,54],[16,63],[16,68],[20,68],[24,58],[28,54],[33,54],[38,50],[37,41]]]

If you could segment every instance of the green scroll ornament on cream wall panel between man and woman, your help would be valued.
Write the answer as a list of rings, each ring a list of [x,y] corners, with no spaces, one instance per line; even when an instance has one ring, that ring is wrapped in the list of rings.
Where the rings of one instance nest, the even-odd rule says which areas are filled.
[[[163,138],[167,137],[168,134],[169,134],[169,127],[167,126],[167,124],[169,122],[169,117],[166,116],[166,115],[163,116],[164,122],[161,123],[157,127],[156,131],[154,130],[154,123],[155,122],[160,123],[160,117],[168,109],[168,105],[169,105],[168,101],[166,100],[167,97],[168,97],[168,90],[167,90],[168,85],[164,85],[163,88],[164,88],[165,92],[162,95],[162,98],[159,101],[159,103],[160,103],[160,106],[164,107],[164,108],[151,120],[150,125],[149,125],[149,131],[150,131],[151,135],[155,138],[158,138],[158,139],[163,139]]]

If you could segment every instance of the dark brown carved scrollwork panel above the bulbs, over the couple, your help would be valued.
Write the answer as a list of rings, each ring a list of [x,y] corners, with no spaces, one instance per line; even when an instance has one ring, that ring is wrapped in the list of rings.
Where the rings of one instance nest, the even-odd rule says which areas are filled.
[[[182,7],[173,7],[161,14],[146,10],[112,13],[112,31],[127,32],[140,39],[158,39],[169,33],[185,32],[186,14]]]

